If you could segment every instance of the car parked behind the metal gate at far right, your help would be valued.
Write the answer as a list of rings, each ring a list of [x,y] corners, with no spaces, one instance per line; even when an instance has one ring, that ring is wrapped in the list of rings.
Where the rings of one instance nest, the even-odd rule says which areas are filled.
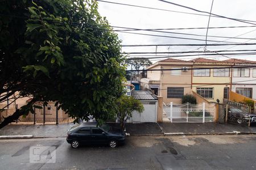
[[[251,123],[256,122],[256,114],[249,114],[237,108],[230,108],[228,118],[229,120],[237,121],[238,124],[249,121]]]

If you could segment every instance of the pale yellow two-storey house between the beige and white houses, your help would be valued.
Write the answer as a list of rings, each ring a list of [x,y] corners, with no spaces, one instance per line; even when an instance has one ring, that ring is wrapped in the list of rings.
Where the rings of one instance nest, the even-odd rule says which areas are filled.
[[[232,66],[232,63],[206,58],[196,58],[190,62],[193,62],[192,68],[195,69],[192,71],[192,91],[209,102],[218,99],[222,103],[222,99],[229,99],[231,69],[225,67]]]

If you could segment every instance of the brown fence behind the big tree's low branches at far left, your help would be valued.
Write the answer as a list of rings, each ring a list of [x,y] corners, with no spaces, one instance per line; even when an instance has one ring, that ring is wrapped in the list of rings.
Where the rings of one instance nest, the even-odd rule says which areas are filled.
[[[57,109],[54,104],[48,104],[43,106],[43,104],[36,104],[42,109],[38,109],[34,107],[33,113],[28,113],[27,116],[20,116],[16,123],[23,123],[23,124],[68,124],[73,122],[73,118],[68,117],[68,114],[61,109]],[[5,105],[0,104],[0,109],[4,108],[2,112],[0,112],[0,121],[3,121],[2,117],[10,116],[15,112],[16,109],[20,109],[23,105],[16,104],[11,105],[10,108],[4,108]]]

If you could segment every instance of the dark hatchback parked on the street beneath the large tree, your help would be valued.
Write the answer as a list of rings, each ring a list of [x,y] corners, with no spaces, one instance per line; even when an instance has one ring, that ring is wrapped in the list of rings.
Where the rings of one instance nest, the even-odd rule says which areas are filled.
[[[81,145],[109,145],[114,148],[125,142],[125,132],[108,124],[97,127],[96,122],[82,123],[68,130],[67,142],[73,148]]]

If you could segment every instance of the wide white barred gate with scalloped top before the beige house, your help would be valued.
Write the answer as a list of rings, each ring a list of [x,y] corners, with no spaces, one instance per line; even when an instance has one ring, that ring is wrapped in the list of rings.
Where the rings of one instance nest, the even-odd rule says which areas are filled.
[[[215,104],[174,104],[164,106],[164,113],[171,122],[213,122],[216,113]]]

